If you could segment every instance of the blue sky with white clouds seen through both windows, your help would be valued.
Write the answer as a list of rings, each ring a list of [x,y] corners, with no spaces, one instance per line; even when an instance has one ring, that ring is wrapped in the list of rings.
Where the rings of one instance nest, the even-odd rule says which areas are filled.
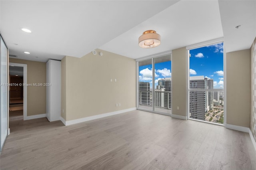
[[[223,89],[223,43],[192,49],[190,54],[190,76],[214,79],[214,89]],[[155,86],[165,77],[171,77],[171,61],[155,64]],[[140,66],[139,78],[152,88],[152,65]]]

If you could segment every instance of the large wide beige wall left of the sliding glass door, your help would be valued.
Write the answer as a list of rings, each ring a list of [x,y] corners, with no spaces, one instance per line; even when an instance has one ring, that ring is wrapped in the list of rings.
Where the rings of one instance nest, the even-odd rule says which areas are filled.
[[[66,115],[66,121],[136,107],[135,60],[96,51],[97,55],[89,53],[82,58],[62,59],[62,65],[66,65],[62,68],[62,73],[66,72],[66,83],[62,85],[66,91],[65,98],[62,90],[62,106],[66,103],[66,110],[62,116],[65,119]],[[99,51],[103,56],[98,55]],[[116,103],[121,106],[116,107]]]

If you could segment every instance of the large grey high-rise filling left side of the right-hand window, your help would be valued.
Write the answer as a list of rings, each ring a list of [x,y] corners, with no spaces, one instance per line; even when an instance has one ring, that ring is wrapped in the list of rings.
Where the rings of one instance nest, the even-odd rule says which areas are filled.
[[[204,76],[191,76],[190,89],[207,89],[208,82]],[[190,118],[205,121],[205,113],[209,110],[208,92],[190,91],[189,96]]]

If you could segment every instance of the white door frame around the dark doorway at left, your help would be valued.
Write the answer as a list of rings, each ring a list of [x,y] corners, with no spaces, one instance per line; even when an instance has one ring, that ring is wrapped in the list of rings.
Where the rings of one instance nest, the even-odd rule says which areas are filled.
[[[23,67],[23,120],[28,120],[27,116],[27,65],[20,63],[9,63],[12,66]]]

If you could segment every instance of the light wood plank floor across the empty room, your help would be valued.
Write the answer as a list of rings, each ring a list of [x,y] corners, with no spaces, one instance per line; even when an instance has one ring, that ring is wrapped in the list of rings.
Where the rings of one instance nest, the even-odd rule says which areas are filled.
[[[1,170],[256,169],[247,133],[131,111],[64,126],[13,111]]]

